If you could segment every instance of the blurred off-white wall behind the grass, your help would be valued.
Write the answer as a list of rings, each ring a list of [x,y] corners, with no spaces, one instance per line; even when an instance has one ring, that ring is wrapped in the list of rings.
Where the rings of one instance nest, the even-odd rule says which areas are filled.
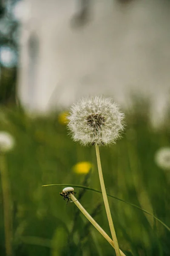
[[[162,115],[170,93],[170,1],[89,2],[87,20],[79,24],[78,0],[25,1],[21,102],[46,113],[104,93],[126,105],[133,90],[151,95],[155,116]]]

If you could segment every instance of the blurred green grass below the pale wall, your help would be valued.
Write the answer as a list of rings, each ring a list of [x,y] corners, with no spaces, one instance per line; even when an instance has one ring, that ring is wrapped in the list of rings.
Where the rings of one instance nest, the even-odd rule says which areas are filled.
[[[101,147],[107,192],[156,215],[170,227],[170,179],[154,162],[161,146],[170,145],[170,127],[154,130],[148,102],[133,101],[126,111],[127,129],[110,148]],[[22,108],[0,108],[0,130],[15,138],[6,154],[12,195],[14,256],[110,256],[113,248],[72,203],[59,195],[64,187],[44,184],[68,183],[100,190],[95,148],[74,143],[59,113],[33,118]],[[75,173],[72,167],[88,161],[94,169]],[[102,195],[75,189],[85,209],[108,233]],[[5,256],[3,197],[0,190],[0,255]],[[169,256],[170,232],[151,216],[109,198],[120,248],[127,256]]]

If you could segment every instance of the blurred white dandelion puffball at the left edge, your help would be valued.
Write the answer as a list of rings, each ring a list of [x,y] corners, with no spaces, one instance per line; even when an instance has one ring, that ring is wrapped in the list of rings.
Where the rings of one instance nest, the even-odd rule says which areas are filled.
[[[0,152],[10,151],[14,147],[14,138],[6,131],[0,131]]]

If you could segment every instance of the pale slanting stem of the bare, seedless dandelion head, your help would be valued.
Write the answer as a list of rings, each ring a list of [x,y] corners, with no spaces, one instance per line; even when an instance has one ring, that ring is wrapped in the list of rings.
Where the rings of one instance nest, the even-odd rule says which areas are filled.
[[[115,248],[115,244],[113,240],[105,233],[105,231],[97,224],[97,222],[94,220],[94,218],[91,217],[91,215],[85,210],[84,207],[79,203],[79,201],[75,198],[74,195],[70,194],[71,200],[74,202],[74,204],[79,208],[79,210],[85,215],[85,217],[88,219],[88,221],[91,222],[92,225],[96,228],[96,230],[99,231],[99,233],[111,244],[113,248]],[[119,250],[121,256],[125,256],[125,254]]]

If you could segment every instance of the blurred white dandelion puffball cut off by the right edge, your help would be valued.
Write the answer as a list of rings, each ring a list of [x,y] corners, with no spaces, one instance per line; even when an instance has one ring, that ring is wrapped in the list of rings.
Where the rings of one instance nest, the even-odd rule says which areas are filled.
[[[170,170],[170,148],[160,148],[155,154],[156,164],[164,170]]]

